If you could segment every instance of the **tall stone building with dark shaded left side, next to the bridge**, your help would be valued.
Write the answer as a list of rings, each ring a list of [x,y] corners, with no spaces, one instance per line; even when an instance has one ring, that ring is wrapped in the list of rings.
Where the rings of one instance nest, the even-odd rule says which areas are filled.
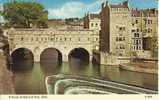
[[[131,13],[128,2],[102,4],[100,51],[117,56],[129,56],[131,47]]]

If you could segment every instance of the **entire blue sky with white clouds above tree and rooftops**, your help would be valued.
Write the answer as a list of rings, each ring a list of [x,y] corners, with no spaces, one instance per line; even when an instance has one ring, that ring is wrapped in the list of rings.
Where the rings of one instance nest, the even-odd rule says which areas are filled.
[[[0,4],[8,0],[0,0]],[[29,1],[29,0],[26,0]],[[33,0],[32,0],[33,1]],[[49,19],[83,17],[88,11],[98,13],[101,10],[101,4],[105,0],[35,0],[43,4],[49,12]],[[125,0],[108,0],[112,4],[118,4]],[[157,0],[129,0],[131,8],[157,8]]]

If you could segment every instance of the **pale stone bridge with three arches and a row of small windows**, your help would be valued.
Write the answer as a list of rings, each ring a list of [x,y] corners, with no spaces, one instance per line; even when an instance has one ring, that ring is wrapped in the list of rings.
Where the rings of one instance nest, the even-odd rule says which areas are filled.
[[[83,48],[92,59],[93,50],[99,47],[99,32],[85,29],[10,29],[7,31],[10,54],[19,48],[30,50],[34,61],[40,61],[41,53],[47,48],[55,48],[62,54],[62,61],[75,48]]]

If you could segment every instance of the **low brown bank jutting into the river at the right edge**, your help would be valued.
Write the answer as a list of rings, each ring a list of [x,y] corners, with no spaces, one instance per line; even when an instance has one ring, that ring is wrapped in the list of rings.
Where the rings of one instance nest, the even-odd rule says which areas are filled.
[[[120,64],[120,68],[142,73],[158,74],[158,64],[151,62],[130,62]]]

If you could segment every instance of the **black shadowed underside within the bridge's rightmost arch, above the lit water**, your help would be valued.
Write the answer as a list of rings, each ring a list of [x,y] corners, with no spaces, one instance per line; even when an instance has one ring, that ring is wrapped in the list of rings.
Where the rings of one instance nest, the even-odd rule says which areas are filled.
[[[72,58],[77,59],[79,62],[89,63],[90,54],[89,51],[85,48],[79,47],[72,49],[68,54],[68,61],[72,62]]]

